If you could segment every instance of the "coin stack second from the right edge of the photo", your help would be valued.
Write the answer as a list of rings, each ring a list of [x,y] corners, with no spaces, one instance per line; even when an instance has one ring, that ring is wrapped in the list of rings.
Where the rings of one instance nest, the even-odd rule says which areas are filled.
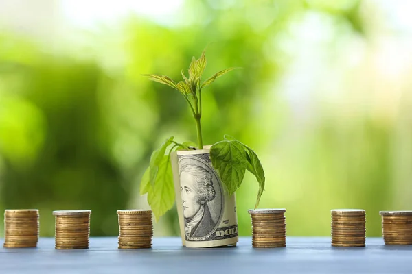
[[[365,210],[331,210],[332,247],[365,247]]]

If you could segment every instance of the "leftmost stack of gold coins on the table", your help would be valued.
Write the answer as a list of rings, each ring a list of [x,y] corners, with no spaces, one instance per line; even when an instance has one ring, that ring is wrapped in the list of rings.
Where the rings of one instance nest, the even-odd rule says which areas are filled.
[[[5,210],[3,247],[36,247],[38,210]]]

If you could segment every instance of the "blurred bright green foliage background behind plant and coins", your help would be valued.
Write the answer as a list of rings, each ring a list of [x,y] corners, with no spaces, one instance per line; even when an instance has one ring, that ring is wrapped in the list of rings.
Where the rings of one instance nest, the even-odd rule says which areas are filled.
[[[40,209],[41,236],[54,235],[52,210],[91,209],[91,235],[104,236],[117,234],[116,210],[148,208],[139,180],[150,153],[168,136],[196,140],[196,129],[179,92],[140,75],[177,80],[207,45],[207,77],[243,69],[205,90],[204,142],[230,134],[258,153],[260,207],[286,208],[288,235],[326,236],[330,209],[364,208],[367,236],[380,236],[379,210],[411,209],[412,23],[387,8],[401,1],[187,0],[92,27],[69,26],[62,1],[39,1],[52,12],[33,10],[32,21],[5,16],[7,2],[0,210]],[[257,192],[247,175],[241,235]],[[178,226],[174,208],[155,236]]]

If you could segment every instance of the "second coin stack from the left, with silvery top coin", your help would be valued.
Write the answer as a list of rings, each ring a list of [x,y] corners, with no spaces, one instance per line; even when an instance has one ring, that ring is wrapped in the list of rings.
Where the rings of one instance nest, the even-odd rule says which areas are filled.
[[[57,210],[56,249],[88,249],[91,210]]]

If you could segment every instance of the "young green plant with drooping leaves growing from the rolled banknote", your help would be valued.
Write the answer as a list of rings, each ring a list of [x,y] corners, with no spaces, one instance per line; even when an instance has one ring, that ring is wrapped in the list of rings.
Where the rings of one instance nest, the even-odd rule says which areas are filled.
[[[202,82],[202,75],[205,71],[207,60],[205,51],[200,58],[192,58],[189,66],[189,78],[181,71],[183,81],[174,82],[170,77],[164,75],[145,74],[150,80],[165,84],[179,91],[192,111],[196,122],[197,145],[192,142],[175,142],[174,137],[170,137],[159,149],[153,151],[150,157],[150,164],[146,169],[140,184],[140,194],[148,193],[148,203],[152,207],[156,219],[170,208],[174,203],[174,184],[172,166],[170,164],[170,153],[178,149],[203,149],[203,138],[201,128],[202,116],[202,92],[203,88],[213,83],[216,78],[232,71],[236,68],[229,68],[215,73]],[[168,149],[170,147],[170,149]],[[218,171],[222,184],[225,185],[229,195],[232,195],[242,184],[246,170],[255,175],[259,183],[258,198],[255,208],[258,207],[260,197],[264,191],[264,170],[258,155],[247,145],[242,144],[235,138],[225,135],[224,140],[217,142],[210,148],[211,164]]]

